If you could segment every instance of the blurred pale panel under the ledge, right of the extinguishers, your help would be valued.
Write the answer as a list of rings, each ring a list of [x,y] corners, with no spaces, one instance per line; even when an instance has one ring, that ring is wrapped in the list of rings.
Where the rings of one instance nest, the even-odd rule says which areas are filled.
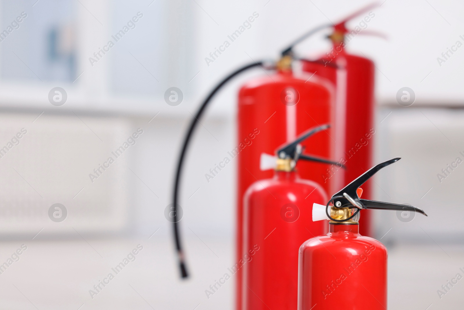
[[[401,157],[376,176],[376,196],[428,215],[377,211],[376,235],[388,231],[382,241],[392,243],[462,243],[464,229],[455,218],[462,207],[464,110],[385,107],[376,122],[377,162]]]

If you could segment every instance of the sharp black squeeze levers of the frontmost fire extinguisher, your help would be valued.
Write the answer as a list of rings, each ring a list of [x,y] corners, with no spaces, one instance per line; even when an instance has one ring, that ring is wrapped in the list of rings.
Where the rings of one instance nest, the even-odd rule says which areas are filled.
[[[375,165],[371,169],[361,174],[358,178],[352,181],[350,184],[345,186],[341,191],[332,196],[333,203],[336,208],[346,207],[347,205],[354,205],[358,209],[380,209],[380,210],[401,210],[401,211],[417,211],[425,214],[422,209],[413,207],[405,204],[391,204],[388,202],[374,201],[361,199],[358,197],[356,190],[363,185],[369,178],[371,178],[377,171],[386,167],[387,165],[393,164],[400,160],[400,157],[395,157],[390,160],[384,161],[378,165]]]

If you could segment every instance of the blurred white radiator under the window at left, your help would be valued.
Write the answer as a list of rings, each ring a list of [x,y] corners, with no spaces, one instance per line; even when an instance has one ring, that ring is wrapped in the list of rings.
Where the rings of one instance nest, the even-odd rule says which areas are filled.
[[[0,114],[0,235],[121,231],[131,144],[143,134],[129,139],[137,128],[126,119],[39,114]],[[49,217],[52,204],[64,205],[64,220],[63,208]]]

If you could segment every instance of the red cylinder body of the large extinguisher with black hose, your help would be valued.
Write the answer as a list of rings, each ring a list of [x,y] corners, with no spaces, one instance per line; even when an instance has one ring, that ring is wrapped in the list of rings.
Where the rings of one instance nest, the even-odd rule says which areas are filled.
[[[264,75],[246,83],[238,95],[238,120],[237,120],[237,145],[246,145],[238,157],[238,187],[237,187],[237,231],[236,246],[239,261],[242,253],[242,222],[243,222],[243,197],[246,189],[256,180],[272,178],[273,171],[261,171],[259,158],[265,152],[273,155],[278,146],[287,142],[293,130],[298,135],[305,130],[327,123],[332,123],[334,108],[334,89],[328,81],[310,75],[294,76],[291,72],[279,72]],[[288,107],[284,104],[282,93],[287,88],[294,88],[299,100],[295,106]],[[292,109],[294,109],[292,111]],[[290,124],[291,113],[294,112],[294,124]],[[255,131],[259,133],[256,134]],[[290,130],[290,132],[289,132]],[[255,133],[254,135],[251,135]],[[251,136],[250,136],[251,135]],[[320,132],[303,143],[307,153],[331,158],[333,153],[332,130]],[[250,139],[254,137],[254,139]],[[247,139],[247,140],[245,140]],[[322,184],[328,192],[332,179],[324,183],[322,175],[327,165],[312,162],[298,163],[302,178],[314,180]],[[324,202],[325,203],[325,202]],[[279,247],[279,244],[274,244]],[[237,273],[236,307],[241,308],[241,270]]]

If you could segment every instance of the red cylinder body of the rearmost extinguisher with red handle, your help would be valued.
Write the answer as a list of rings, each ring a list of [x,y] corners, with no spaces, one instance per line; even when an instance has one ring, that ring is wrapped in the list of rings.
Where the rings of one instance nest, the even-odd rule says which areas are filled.
[[[340,52],[337,53],[337,51]],[[335,154],[338,157],[335,159],[338,161],[344,158],[347,167],[346,171],[342,171],[344,177],[341,187],[335,189],[335,191],[339,191],[342,186],[353,181],[373,164],[373,140],[375,137],[373,120],[374,63],[370,59],[346,53],[342,46],[334,46],[328,56],[319,60],[341,67],[341,69],[335,69],[331,66],[309,62],[305,62],[303,65],[303,70],[330,80],[339,92],[336,103],[337,113],[345,115],[342,121],[335,122],[332,130],[344,134],[342,139],[337,139],[337,143],[343,145],[341,152]],[[342,99],[338,97],[339,95]],[[345,110],[344,113],[343,110]],[[342,126],[342,128],[337,126]],[[340,170],[326,173],[328,177],[334,174],[340,174]],[[371,181],[362,186],[364,198],[373,198],[371,187]],[[362,235],[371,236],[370,211],[364,211],[362,214],[360,232]]]

